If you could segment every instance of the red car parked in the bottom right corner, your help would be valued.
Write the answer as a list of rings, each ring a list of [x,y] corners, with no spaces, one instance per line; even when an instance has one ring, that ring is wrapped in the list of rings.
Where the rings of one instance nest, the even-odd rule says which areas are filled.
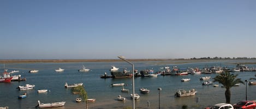
[[[256,107],[255,101],[240,101],[233,106],[235,109],[254,109]]]

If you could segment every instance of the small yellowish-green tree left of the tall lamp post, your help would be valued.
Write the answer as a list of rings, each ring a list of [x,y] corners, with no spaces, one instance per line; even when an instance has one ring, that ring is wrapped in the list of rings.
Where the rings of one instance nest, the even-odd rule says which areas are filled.
[[[74,87],[72,89],[72,92],[78,92],[80,97],[86,102],[86,109],[88,108],[87,106],[87,92],[85,91],[84,86],[78,86]]]

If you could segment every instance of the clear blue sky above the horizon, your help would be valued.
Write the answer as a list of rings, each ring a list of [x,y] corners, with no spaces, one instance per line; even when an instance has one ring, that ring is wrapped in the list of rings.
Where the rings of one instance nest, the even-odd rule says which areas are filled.
[[[256,57],[256,1],[0,1],[0,59]]]

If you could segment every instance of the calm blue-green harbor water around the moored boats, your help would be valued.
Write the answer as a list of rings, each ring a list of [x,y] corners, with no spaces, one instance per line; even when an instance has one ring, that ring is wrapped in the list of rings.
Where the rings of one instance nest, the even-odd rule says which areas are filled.
[[[242,60],[243,61],[243,60]],[[248,60],[246,60],[248,61]],[[255,60],[252,60],[254,62]],[[177,66],[179,68],[198,67],[200,69],[205,66],[226,66],[234,68],[236,61],[220,61],[220,62],[201,62],[201,63],[183,63],[183,64],[168,64],[159,65],[161,62],[156,61],[141,61],[133,62],[135,69],[154,69],[157,72],[160,67]],[[158,64],[155,64],[158,63]],[[166,62],[165,62],[166,63]],[[167,62],[168,63],[168,62]],[[91,69],[90,72],[78,72],[82,66]],[[88,102],[89,108],[124,108],[132,107],[132,78],[126,79],[101,79],[100,75],[107,72],[110,75],[109,69],[114,65],[117,68],[128,68],[132,70],[127,62],[79,62],[79,63],[5,63],[5,69],[20,70],[22,78],[27,81],[13,81],[10,83],[0,83],[0,107],[9,106],[9,108],[35,108],[38,105],[38,100],[44,103],[66,101],[66,105],[58,108],[85,108],[85,102],[77,103],[75,98],[78,95],[72,94],[70,88],[64,88],[65,82],[68,84],[83,82],[87,91],[88,98],[95,98],[96,102]],[[0,66],[4,66],[3,64]],[[246,65],[248,67],[256,67],[256,65]],[[61,67],[64,72],[57,73],[55,69]],[[4,68],[0,68],[3,72]],[[28,70],[37,69],[38,73],[28,73]],[[242,81],[249,78],[256,78],[255,72],[240,72],[239,78]],[[216,74],[198,74],[198,75],[183,75],[183,76],[158,76],[157,78],[135,78],[135,93],[140,95],[140,99],[135,101],[136,108],[158,108],[158,87],[162,88],[160,92],[160,108],[181,108],[186,104],[189,108],[204,108],[209,105],[225,102],[225,88],[211,86],[202,86],[199,78],[201,76],[211,76],[214,78]],[[181,82],[182,78],[190,78],[188,82]],[[129,93],[121,92],[121,87],[110,87],[112,83],[124,82],[127,84],[126,88],[130,89]],[[19,91],[17,86],[25,84],[34,84],[34,89],[28,91]],[[218,84],[218,83],[215,83]],[[150,89],[150,93],[142,94],[139,92],[140,88]],[[175,98],[174,94],[177,89],[192,89],[198,92],[195,96]],[[37,93],[38,89],[48,89],[47,93]],[[256,99],[256,86],[247,86],[247,99]],[[27,93],[27,98],[18,99],[17,96]],[[246,98],[246,85],[240,85],[231,88],[231,104],[235,104]],[[122,95],[126,97],[126,101],[118,101],[117,96]],[[199,98],[199,102],[197,102]]]

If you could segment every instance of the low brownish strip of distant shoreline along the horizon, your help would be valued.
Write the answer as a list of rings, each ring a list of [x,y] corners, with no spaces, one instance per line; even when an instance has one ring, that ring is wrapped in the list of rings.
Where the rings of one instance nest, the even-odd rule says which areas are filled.
[[[128,61],[163,61],[164,63],[197,63],[197,62],[219,62],[219,61],[241,61],[240,64],[256,64],[256,62],[247,62],[245,60],[256,59],[127,59]],[[121,59],[52,59],[52,60],[0,60],[0,63],[38,63],[38,62],[53,62],[53,63],[65,63],[65,62],[117,62],[123,61]],[[238,64],[238,63],[234,63]]]

